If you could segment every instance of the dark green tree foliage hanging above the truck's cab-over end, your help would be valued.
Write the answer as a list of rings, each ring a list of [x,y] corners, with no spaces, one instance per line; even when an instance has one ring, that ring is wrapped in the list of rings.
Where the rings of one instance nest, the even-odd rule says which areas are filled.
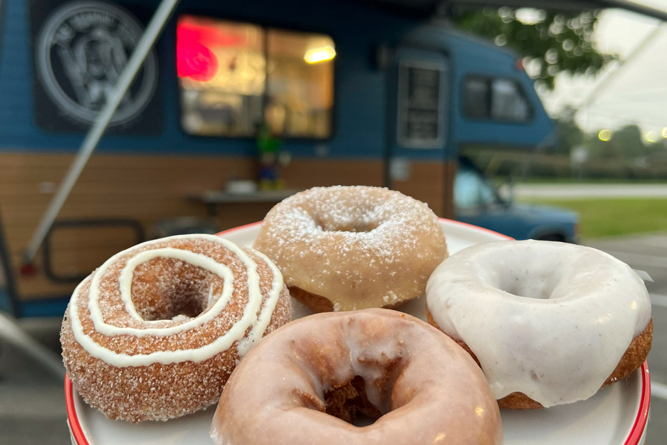
[[[559,72],[595,74],[618,58],[601,54],[595,47],[593,29],[598,22],[598,11],[537,10],[535,16],[534,22],[527,23],[517,18],[516,9],[487,7],[455,11],[452,20],[463,30],[517,51],[536,83],[549,89],[554,88]]]

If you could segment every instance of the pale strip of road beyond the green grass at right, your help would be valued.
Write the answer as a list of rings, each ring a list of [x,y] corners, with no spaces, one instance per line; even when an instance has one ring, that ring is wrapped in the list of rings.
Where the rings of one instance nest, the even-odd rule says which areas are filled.
[[[516,184],[519,198],[582,198],[667,197],[667,184]]]

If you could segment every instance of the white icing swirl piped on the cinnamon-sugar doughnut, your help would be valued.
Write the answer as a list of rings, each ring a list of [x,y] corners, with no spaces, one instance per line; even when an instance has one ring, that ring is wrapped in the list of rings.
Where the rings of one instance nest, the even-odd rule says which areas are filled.
[[[193,349],[179,349],[179,350],[160,350],[154,353],[149,354],[135,354],[128,355],[124,353],[117,353],[113,350],[101,346],[99,343],[94,341],[88,334],[83,330],[83,325],[81,324],[81,318],[79,318],[79,297],[81,293],[81,288],[83,284],[90,281],[90,291],[88,296],[88,310],[90,311],[90,320],[94,325],[94,329],[106,336],[115,336],[115,335],[131,335],[133,337],[146,337],[146,336],[167,336],[176,334],[177,332],[190,330],[196,328],[204,323],[208,323],[213,320],[213,318],[219,316],[224,310],[231,294],[233,292],[234,280],[235,277],[232,271],[225,266],[220,264],[215,259],[207,257],[204,254],[199,254],[195,252],[190,252],[189,250],[177,249],[177,248],[156,248],[150,249],[151,245],[156,243],[163,243],[164,241],[169,241],[173,239],[196,239],[196,240],[206,240],[222,245],[224,248],[231,250],[233,254],[238,257],[246,266],[247,271],[247,288],[248,288],[248,302],[245,308],[243,309],[243,314],[239,321],[237,321],[227,332],[225,332],[221,337],[218,337],[211,343],[208,343],[200,348]],[[89,277],[87,280],[84,280],[79,286],[76,287],[74,293],[72,294],[72,300],[69,303],[69,317],[72,320],[72,331],[74,332],[74,338],[78,341],[83,348],[90,353],[93,357],[103,360],[104,362],[111,364],[117,367],[124,366],[148,366],[154,363],[160,364],[172,364],[176,362],[183,362],[190,360],[192,362],[202,362],[206,359],[217,355],[224,350],[227,350],[231,347],[234,341],[238,341],[237,350],[242,357],[247,353],[247,351],[253,346],[253,344],[261,339],[263,336],[266,327],[269,325],[271,316],[274,312],[274,309],[278,303],[280,293],[283,289],[283,278],[276,266],[265,257],[265,255],[260,252],[254,251],[259,257],[266,261],[266,264],[272,271],[273,280],[271,290],[267,296],[263,307],[260,307],[262,304],[263,296],[260,289],[260,278],[257,273],[257,265],[255,262],[235,243],[227,241],[224,238],[214,235],[179,235],[171,236],[169,238],[162,238],[160,240],[148,241],[142,243],[130,250],[136,248],[149,248],[148,250],[143,250],[138,252],[135,256],[131,257],[125,264],[124,268],[120,273],[118,279],[118,285],[120,287],[121,299],[124,302],[126,312],[131,316],[131,318],[142,321],[150,325],[151,323],[160,323],[160,321],[145,321],[141,318],[138,312],[135,309],[134,303],[131,298],[131,285],[132,277],[135,268],[140,264],[145,263],[151,259],[157,257],[165,258],[174,258],[181,261],[186,261],[193,266],[198,266],[208,270],[211,273],[222,278],[224,281],[224,286],[222,287],[222,294],[219,298],[213,303],[213,306],[209,307],[207,310],[199,314],[199,316],[191,318],[184,323],[172,325],[170,327],[146,327],[138,329],[135,327],[120,327],[111,325],[104,322],[104,319],[101,314],[101,309],[99,307],[99,284],[101,277],[104,277],[108,268],[115,263],[120,257],[125,255],[127,251],[120,252],[115,254],[113,257],[108,259],[99,269],[92,273],[92,278]],[[208,302],[215,300],[212,295],[213,289],[209,291]],[[257,312],[260,311],[259,315]],[[245,337],[245,332],[250,328],[250,332]]]

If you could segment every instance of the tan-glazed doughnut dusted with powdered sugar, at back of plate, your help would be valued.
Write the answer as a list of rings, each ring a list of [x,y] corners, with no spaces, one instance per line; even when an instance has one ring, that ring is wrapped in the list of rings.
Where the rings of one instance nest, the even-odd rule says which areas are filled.
[[[277,204],[254,248],[314,312],[397,307],[424,294],[447,257],[427,204],[386,188],[316,187]]]

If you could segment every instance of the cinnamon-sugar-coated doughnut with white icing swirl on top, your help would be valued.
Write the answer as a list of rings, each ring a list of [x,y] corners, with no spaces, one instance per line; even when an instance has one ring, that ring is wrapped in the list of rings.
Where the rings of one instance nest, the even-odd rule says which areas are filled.
[[[63,363],[109,419],[166,421],[216,403],[240,357],[291,314],[263,254],[213,235],[171,236],[114,255],[76,287]]]

